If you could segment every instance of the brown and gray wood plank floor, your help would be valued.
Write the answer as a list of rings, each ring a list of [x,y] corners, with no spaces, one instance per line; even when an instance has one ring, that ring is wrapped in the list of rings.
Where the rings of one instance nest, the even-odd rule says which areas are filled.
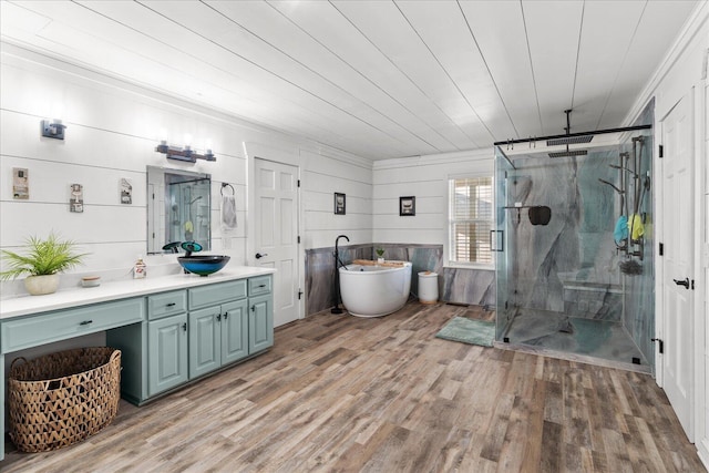
[[[480,308],[311,316],[267,353],[3,472],[700,472],[640,373],[434,338]],[[10,448],[10,444],[8,444]]]

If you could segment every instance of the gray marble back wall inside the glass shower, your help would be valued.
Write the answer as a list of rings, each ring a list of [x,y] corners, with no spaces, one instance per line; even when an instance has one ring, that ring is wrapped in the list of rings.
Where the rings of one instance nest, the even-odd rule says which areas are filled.
[[[505,233],[511,307],[619,321],[623,311],[619,256],[613,238],[618,148],[587,156],[549,158],[546,153],[514,161],[507,174]],[[527,208],[548,206],[548,225],[532,225]]]

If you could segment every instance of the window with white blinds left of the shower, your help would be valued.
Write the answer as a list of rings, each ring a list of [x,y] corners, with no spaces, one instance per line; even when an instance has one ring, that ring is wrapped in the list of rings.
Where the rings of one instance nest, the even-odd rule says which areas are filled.
[[[450,188],[451,263],[491,265],[492,177],[451,179]]]

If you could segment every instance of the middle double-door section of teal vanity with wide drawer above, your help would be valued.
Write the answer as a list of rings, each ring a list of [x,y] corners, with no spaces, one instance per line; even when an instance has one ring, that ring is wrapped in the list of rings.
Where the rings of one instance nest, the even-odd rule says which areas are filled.
[[[188,289],[189,379],[249,354],[247,280]]]

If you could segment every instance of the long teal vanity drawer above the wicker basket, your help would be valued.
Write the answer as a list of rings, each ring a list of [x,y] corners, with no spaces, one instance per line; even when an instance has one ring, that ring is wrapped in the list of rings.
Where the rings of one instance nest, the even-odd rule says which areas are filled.
[[[58,310],[2,322],[2,352],[94,333],[145,319],[142,297]]]

